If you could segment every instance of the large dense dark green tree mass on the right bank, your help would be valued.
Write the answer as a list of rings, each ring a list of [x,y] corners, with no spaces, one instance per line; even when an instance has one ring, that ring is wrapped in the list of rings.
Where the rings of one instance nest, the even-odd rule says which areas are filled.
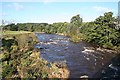
[[[80,30],[86,36],[85,40],[104,48],[120,47],[120,32],[115,29],[115,18],[112,15],[112,12],[108,12],[94,22],[85,23]]]

